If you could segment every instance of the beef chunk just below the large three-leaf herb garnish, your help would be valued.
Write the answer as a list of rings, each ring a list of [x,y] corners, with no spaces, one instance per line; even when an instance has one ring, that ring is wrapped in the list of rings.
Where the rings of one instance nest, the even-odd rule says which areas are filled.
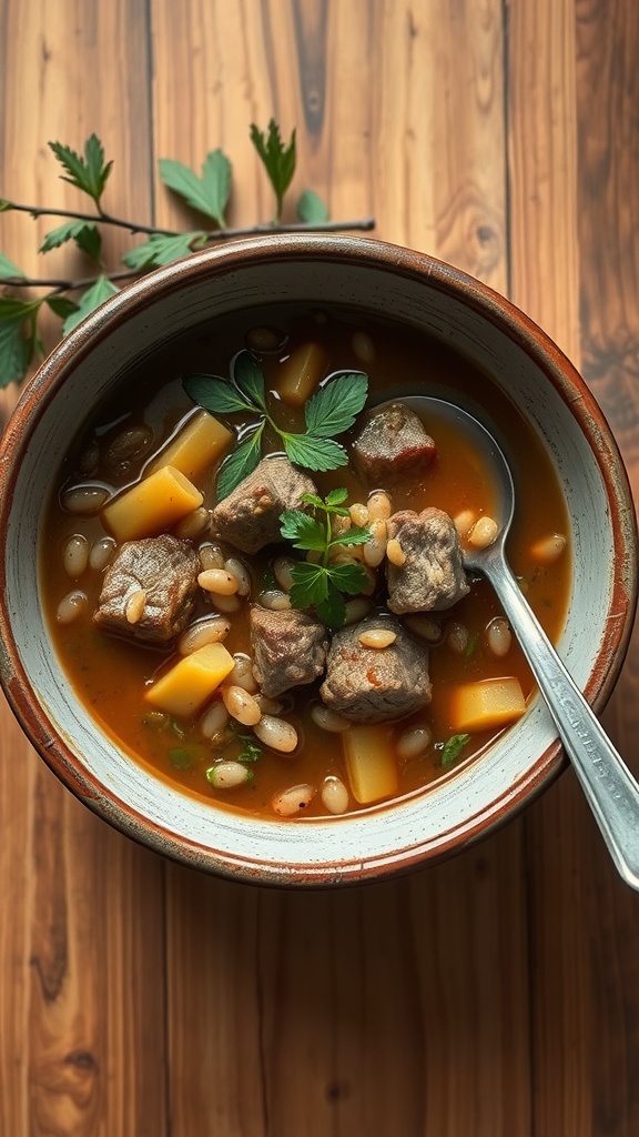
[[[288,458],[263,458],[213,511],[217,534],[242,553],[257,553],[281,541],[280,515],[284,509],[299,509],[302,493],[317,493],[310,478]]]

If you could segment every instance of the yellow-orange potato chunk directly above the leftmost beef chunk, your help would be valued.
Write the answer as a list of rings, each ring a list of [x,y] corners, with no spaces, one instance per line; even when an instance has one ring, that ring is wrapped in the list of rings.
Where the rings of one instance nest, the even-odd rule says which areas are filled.
[[[118,493],[102,509],[102,520],[118,541],[156,537],[204,501],[199,489],[174,466],[161,466]]]

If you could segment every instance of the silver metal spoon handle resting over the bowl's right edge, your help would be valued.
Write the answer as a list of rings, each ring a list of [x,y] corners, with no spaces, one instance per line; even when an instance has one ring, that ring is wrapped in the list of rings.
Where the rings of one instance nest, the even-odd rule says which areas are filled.
[[[482,565],[548,704],[613,861],[639,890],[639,786],[571,679],[503,559]]]

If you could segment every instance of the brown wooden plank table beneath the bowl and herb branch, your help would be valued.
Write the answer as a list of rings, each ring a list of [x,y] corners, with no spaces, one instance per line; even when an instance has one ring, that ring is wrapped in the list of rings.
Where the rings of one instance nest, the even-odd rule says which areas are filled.
[[[557,340],[638,487],[637,0],[0,0],[0,196],[77,208],[47,142],[96,131],[113,214],[192,225],[158,158],[222,147],[232,224],[267,221],[274,115],[297,190]],[[0,249],[82,275],[52,224],[6,213]],[[637,640],[604,717],[639,773]],[[639,897],[571,772],[446,864],[289,895],[111,831],[5,705],[0,749],[2,1137],[639,1134]]]

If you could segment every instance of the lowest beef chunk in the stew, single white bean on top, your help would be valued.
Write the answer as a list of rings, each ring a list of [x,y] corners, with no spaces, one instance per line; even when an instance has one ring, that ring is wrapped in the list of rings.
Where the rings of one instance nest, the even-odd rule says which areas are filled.
[[[397,639],[384,648],[364,647],[360,634],[374,628],[390,629]],[[355,722],[400,719],[431,700],[428,648],[388,613],[366,616],[333,636],[320,695]]]

